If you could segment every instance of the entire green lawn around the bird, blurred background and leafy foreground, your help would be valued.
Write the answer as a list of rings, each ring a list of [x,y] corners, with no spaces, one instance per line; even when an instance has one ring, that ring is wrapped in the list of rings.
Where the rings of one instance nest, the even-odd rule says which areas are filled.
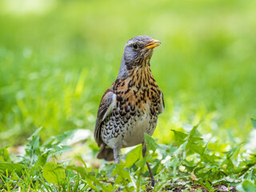
[[[95,159],[93,138],[123,47],[140,34],[162,42],[150,62],[166,102],[158,141],[148,138],[154,190],[256,191],[255,9],[251,0],[0,1],[1,191],[149,188],[141,146],[114,166]]]

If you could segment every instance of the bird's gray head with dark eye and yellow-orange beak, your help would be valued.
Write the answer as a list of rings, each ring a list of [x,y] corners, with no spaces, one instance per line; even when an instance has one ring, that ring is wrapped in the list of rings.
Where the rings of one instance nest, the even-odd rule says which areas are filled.
[[[153,48],[160,46],[160,43],[158,40],[154,40],[146,35],[131,38],[126,42],[118,78],[127,78],[129,76],[129,70],[133,70],[135,67],[149,65]]]

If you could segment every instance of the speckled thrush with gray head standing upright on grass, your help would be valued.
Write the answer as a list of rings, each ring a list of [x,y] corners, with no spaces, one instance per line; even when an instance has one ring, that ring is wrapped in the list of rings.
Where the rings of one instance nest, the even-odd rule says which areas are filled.
[[[110,86],[98,107],[94,139],[100,150],[97,158],[120,163],[121,148],[142,144],[146,154],[144,133],[152,135],[165,104],[150,70],[150,58],[161,42],[140,35],[126,42],[118,77]],[[148,166],[151,186],[154,176]]]

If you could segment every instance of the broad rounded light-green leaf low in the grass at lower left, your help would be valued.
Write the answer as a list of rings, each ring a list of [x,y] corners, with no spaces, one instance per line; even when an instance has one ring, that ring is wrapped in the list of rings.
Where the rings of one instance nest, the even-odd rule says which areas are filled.
[[[53,162],[47,162],[42,169],[42,176],[47,182],[59,184],[65,181],[65,170]]]

